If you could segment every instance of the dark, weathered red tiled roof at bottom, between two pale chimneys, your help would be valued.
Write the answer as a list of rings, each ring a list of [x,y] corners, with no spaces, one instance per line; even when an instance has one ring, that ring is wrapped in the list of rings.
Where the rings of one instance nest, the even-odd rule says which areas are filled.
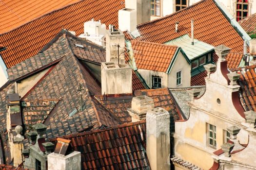
[[[63,136],[81,153],[82,170],[149,170],[145,120]],[[50,141],[56,143],[56,138]]]

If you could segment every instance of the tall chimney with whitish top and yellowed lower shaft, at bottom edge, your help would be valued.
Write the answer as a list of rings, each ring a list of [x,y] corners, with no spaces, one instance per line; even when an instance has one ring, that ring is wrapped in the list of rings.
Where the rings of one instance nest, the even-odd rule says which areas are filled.
[[[163,108],[147,112],[147,156],[152,170],[170,170],[170,114]]]

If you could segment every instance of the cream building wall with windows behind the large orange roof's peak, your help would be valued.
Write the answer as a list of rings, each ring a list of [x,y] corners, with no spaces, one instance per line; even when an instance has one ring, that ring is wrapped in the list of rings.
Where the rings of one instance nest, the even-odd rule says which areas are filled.
[[[200,0],[151,0],[151,20],[177,12]],[[255,0],[215,0],[221,4],[236,21],[256,13]]]

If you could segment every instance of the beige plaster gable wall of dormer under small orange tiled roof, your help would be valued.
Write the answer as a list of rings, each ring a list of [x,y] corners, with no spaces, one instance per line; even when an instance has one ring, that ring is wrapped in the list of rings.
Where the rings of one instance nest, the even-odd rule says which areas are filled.
[[[181,85],[176,84],[176,73],[181,70]],[[190,86],[190,64],[181,52],[178,53],[176,61],[168,75],[168,87],[189,87]]]

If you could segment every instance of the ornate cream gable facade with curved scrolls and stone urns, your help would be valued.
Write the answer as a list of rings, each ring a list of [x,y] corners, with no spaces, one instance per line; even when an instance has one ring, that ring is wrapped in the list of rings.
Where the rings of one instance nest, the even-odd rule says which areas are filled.
[[[205,170],[214,163],[213,153],[229,139],[228,127],[241,127],[245,121],[238,97],[240,86],[236,84],[239,74],[229,73],[225,61],[230,49],[220,45],[215,51],[219,56],[217,68],[213,64],[205,66],[208,72],[205,92],[197,96],[197,91],[192,90],[193,97],[188,103],[190,116],[186,121],[175,123],[173,134],[175,157]],[[237,138],[241,144],[248,143],[248,133],[243,129]],[[179,165],[176,166],[179,169]]]

